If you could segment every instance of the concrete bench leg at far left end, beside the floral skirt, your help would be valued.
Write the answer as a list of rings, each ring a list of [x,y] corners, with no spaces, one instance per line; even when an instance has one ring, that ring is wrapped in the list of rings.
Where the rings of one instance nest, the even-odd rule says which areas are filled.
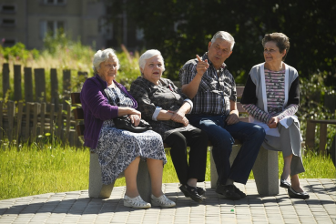
[[[114,183],[104,185],[101,182],[101,168],[96,153],[90,153],[90,170],[88,196],[90,198],[108,199],[111,196]]]

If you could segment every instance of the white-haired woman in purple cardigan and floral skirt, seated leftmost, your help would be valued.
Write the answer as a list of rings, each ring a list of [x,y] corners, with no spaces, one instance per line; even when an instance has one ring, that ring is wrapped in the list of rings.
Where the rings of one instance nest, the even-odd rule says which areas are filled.
[[[137,101],[126,88],[116,82],[119,61],[111,48],[99,50],[93,59],[95,76],[84,83],[80,99],[84,110],[85,146],[97,153],[103,184],[113,183],[124,171],[126,193],[124,206],[148,209],[151,205],[137,191],[137,168],[140,158],[146,159],[151,178],[152,205],[175,206],[162,192],[162,171],[167,159],[162,138],[148,130],[133,133],[115,127],[113,118],[128,116],[134,126],[140,122]]]

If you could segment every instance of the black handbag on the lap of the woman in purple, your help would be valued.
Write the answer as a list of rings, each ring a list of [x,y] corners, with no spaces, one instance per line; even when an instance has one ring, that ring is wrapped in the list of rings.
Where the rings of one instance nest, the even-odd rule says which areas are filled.
[[[143,119],[141,119],[138,126],[135,127],[128,116],[113,118],[113,122],[115,123],[115,127],[117,127],[118,129],[124,129],[135,133],[141,133],[152,129],[148,122]]]

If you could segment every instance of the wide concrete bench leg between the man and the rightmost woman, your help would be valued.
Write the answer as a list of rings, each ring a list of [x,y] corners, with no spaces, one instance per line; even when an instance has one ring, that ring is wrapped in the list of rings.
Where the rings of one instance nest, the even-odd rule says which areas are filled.
[[[261,147],[252,171],[260,195],[279,194],[279,162],[277,151]]]

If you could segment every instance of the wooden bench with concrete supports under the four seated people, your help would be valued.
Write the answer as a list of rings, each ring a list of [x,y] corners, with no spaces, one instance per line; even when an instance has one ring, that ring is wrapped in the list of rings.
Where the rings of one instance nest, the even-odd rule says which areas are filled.
[[[240,99],[244,87],[237,87],[237,96]],[[80,105],[79,93],[71,93],[71,100],[73,105]],[[238,102],[237,107],[239,109],[239,119],[240,121],[248,122],[247,113],[242,108],[241,104]],[[76,132],[78,136],[83,136],[84,134],[84,124],[83,122],[83,109],[77,107],[73,110],[75,119],[81,123],[76,125]],[[244,117],[245,115],[245,117]],[[165,148],[168,148],[165,145]],[[209,148],[212,149],[212,145],[209,142]],[[232,153],[230,156],[230,164],[236,158],[239,152],[240,144],[236,140],[236,145],[232,148]],[[257,189],[260,195],[277,195],[279,194],[279,164],[278,164],[278,152],[266,150],[260,148],[260,153],[253,167],[253,174],[256,181]],[[216,188],[218,174],[214,160],[210,158],[210,178],[211,178],[211,188]],[[112,192],[113,184],[105,186],[101,183],[101,168],[98,163],[98,158],[96,153],[90,153],[90,171],[89,171],[89,197],[92,198],[109,198]],[[150,201],[150,178],[148,173],[148,168],[145,162],[141,161],[139,164],[139,170],[137,173],[137,188],[143,199],[148,199]]]

